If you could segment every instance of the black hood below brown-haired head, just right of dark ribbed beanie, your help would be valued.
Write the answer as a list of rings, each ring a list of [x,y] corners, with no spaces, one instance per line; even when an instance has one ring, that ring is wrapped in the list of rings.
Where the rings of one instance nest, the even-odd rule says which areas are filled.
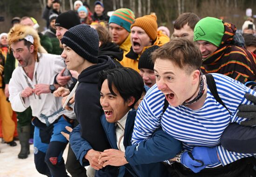
[[[99,48],[99,55],[108,55],[112,59],[121,61],[123,59],[123,51],[113,42],[103,44]]]

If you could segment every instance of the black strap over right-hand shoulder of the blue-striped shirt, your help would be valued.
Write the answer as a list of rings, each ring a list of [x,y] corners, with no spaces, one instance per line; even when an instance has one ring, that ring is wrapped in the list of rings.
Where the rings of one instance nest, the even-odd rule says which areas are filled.
[[[224,106],[229,111],[229,109],[223,103],[222,99],[220,98],[220,96],[217,92],[216,83],[215,83],[213,76],[211,74],[206,74],[205,76],[206,76],[207,85],[208,85],[211,93],[213,94],[214,98],[216,99],[216,101],[219,102],[222,106]],[[229,111],[229,114],[231,115],[230,111]]]

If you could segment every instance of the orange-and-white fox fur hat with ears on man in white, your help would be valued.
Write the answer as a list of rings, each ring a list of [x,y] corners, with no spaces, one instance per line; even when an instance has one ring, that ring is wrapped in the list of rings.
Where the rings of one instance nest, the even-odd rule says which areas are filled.
[[[44,47],[41,46],[39,35],[37,31],[31,26],[24,26],[24,25],[17,24],[10,29],[8,33],[9,52],[11,52],[11,45],[13,43],[19,42],[20,40],[23,40],[23,39],[26,40],[25,38],[28,35],[32,36],[34,39],[34,42],[33,42],[34,56],[35,56],[35,59],[37,60],[37,52],[47,53],[47,51],[44,49]]]

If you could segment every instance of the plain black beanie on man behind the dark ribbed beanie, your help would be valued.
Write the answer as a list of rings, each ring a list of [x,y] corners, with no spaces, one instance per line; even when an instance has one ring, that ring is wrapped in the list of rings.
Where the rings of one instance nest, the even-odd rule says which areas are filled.
[[[73,26],[80,25],[80,19],[76,12],[67,11],[61,13],[55,20],[55,26],[61,26],[66,29],[70,29]]]

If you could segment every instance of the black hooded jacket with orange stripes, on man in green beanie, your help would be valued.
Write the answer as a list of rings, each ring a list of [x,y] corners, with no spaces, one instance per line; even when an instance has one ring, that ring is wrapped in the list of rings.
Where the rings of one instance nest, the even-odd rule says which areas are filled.
[[[224,23],[221,45],[202,61],[203,73],[220,73],[242,83],[256,80],[256,59],[247,49],[234,45],[236,26]]]

